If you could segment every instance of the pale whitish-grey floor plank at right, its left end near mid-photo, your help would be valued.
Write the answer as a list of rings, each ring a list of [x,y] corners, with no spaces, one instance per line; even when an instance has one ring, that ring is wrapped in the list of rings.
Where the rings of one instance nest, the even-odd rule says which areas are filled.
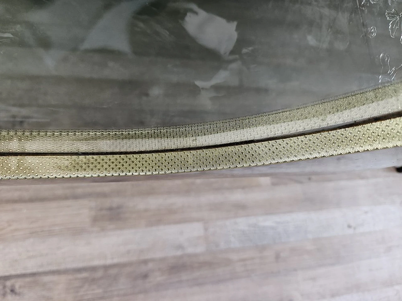
[[[402,206],[343,207],[208,222],[209,249],[240,248],[399,228]]]

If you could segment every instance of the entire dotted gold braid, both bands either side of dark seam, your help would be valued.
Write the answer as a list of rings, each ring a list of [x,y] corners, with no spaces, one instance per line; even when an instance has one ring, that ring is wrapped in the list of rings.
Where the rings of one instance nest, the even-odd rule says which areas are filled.
[[[375,99],[373,99],[374,94]],[[169,128],[120,132],[3,130],[0,136],[0,151],[2,153],[0,157],[0,179],[185,173],[253,167],[402,146],[402,117],[398,115],[401,111],[401,98],[402,85],[396,83],[341,96],[312,106],[228,120],[225,121],[225,130],[219,129],[219,123],[223,121],[199,124],[196,126],[196,133],[191,132],[195,125],[172,127],[170,132]],[[334,103],[337,104],[336,108],[334,108]],[[349,124],[342,128],[326,128],[328,120],[332,120],[332,117],[327,117],[334,116],[334,114],[338,114],[336,116],[340,118],[339,120],[343,124],[348,121],[375,117],[373,115],[375,112],[371,112],[373,110],[371,105],[376,103],[380,104],[375,106],[377,116],[390,113],[396,113],[396,115],[381,120]],[[388,107],[384,107],[385,104]],[[317,106],[320,107],[320,113],[317,112]],[[353,111],[356,108],[361,110]],[[353,113],[350,113],[351,111]],[[303,130],[312,128],[312,125],[316,129],[322,128],[322,130],[306,132],[305,134],[301,134],[299,131],[299,134],[294,132],[294,135],[289,135],[285,129],[282,133],[274,132],[275,135],[271,135],[271,139],[269,139],[270,136],[261,134],[261,132],[267,134],[265,132],[267,128],[275,125],[273,120],[278,118],[278,114],[282,114],[279,124],[286,122],[289,125],[289,123],[295,122],[284,117],[288,116],[289,112],[307,124],[302,128]],[[317,121],[317,117],[322,121],[321,123]],[[308,124],[313,119],[314,122]],[[211,124],[214,124],[214,127]],[[252,134],[251,132],[248,136],[244,136],[244,131],[250,129],[254,130],[255,133]],[[156,131],[158,134],[152,136],[152,131]],[[123,149],[127,153],[122,153],[121,145],[123,144],[121,143],[125,140],[127,132],[131,133]],[[145,132],[147,133],[146,136],[144,136]],[[108,141],[117,143],[115,148],[113,148],[113,144],[101,144],[99,142],[100,140],[104,142],[103,135],[105,133],[108,136]],[[281,138],[277,134],[282,134],[283,137]],[[201,145],[196,142],[186,144],[190,143],[187,139],[189,137],[190,140],[197,141],[200,137],[211,135],[213,139],[209,140],[209,143],[207,143],[208,140],[205,140]],[[230,139],[228,139],[228,135]],[[86,136],[87,143],[80,145],[77,136]],[[261,137],[268,139],[258,141]],[[182,138],[186,138],[186,140],[181,140]],[[254,141],[250,138],[254,138]],[[76,146],[74,146],[74,139],[77,140]],[[152,146],[147,144],[150,139],[153,141]],[[161,141],[159,144],[158,139]],[[174,147],[170,147],[170,144],[169,147],[164,144],[167,140],[170,141],[169,143],[175,140],[176,144],[172,144]],[[222,146],[213,144],[220,141],[236,143]],[[30,144],[29,142],[35,143]],[[69,143],[70,148],[67,147]],[[135,147],[130,143],[135,144]],[[190,146],[191,148],[186,149],[183,146]],[[78,154],[76,151],[82,150],[82,148],[87,153]]]

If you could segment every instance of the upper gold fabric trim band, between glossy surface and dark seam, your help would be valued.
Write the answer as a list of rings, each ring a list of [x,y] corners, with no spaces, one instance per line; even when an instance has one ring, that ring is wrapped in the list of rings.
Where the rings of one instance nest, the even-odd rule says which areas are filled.
[[[400,110],[402,83],[392,83],[309,106],[203,124],[143,130],[1,130],[0,153],[116,153],[206,147],[330,128]]]

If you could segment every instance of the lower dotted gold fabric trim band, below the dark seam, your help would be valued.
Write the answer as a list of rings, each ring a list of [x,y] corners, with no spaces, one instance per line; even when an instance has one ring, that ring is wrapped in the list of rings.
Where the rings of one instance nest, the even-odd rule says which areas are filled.
[[[264,142],[124,155],[0,157],[1,179],[155,175],[230,169],[402,146],[402,117]]]

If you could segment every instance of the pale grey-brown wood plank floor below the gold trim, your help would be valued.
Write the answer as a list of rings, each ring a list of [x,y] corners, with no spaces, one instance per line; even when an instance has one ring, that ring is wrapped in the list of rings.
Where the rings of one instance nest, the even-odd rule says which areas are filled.
[[[399,301],[401,183],[0,182],[0,300]]]

